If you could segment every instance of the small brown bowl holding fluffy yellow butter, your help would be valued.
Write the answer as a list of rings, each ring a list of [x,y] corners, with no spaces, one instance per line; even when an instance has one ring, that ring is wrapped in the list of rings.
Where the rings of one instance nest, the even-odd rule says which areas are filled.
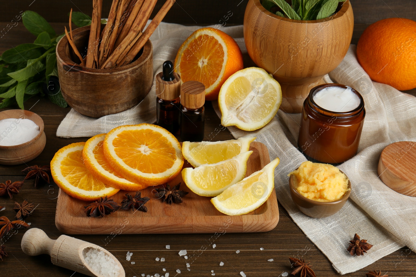
[[[351,182],[348,179],[349,190],[344,194],[344,196],[342,196],[341,199],[333,202],[319,202],[310,200],[309,198],[306,198],[300,194],[295,188],[294,181],[295,176],[292,174],[289,178],[290,195],[292,195],[292,200],[295,202],[297,208],[299,208],[302,213],[312,218],[326,218],[328,216],[334,215],[345,205],[347,199],[349,198],[349,194],[351,193]]]

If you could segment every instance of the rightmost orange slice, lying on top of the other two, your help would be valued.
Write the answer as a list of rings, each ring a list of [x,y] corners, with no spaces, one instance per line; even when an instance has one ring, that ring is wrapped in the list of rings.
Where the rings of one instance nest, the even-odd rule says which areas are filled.
[[[104,156],[124,178],[146,186],[171,181],[183,166],[178,140],[166,129],[146,123],[109,131]]]

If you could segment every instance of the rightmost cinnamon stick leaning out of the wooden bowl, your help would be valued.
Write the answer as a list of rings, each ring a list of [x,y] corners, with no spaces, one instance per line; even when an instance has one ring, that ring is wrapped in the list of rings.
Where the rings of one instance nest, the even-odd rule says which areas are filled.
[[[163,4],[162,8],[158,11],[153,20],[150,22],[149,26],[147,26],[146,30],[143,32],[143,35],[141,35],[133,47],[131,47],[126,56],[121,59],[121,61],[117,64],[117,67],[129,64],[134,59],[134,57],[136,57],[140,49],[145,45],[146,41],[149,40],[150,36],[156,30],[160,22],[162,22],[163,17],[165,17],[166,13],[170,10],[174,3],[175,0],[167,0],[165,4]]]

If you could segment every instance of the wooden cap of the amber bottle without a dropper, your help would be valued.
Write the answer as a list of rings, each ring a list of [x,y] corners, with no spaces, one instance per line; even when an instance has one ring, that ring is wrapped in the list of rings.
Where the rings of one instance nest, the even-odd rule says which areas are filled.
[[[181,104],[188,109],[198,109],[205,104],[205,86],[201,82],[188,81],[181,86]]]

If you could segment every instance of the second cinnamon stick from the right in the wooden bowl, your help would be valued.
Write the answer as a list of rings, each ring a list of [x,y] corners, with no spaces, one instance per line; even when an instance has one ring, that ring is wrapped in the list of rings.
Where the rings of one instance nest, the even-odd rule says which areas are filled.
[[[114,50],[114,52],[110,55],[110,57],[104,62],[104,64],[101,65],[101,68],[113,68],[116,67],[117,62],[119,59],[122,59],[123,57],[120,57],[121,55],[126,55],[127,52],[130,50],[130,48],[134,45],[134,43],[139,39],[141,36],[141,29],[140,26],[143,25],[143,22],[147,21],[148,14],[151,14],[151,12],[154,9],[154,6],[156,5],[157,0],[148,0],[143,3],[143,6],[141,7],[139,14],[136,17],[136,20],[134,20],[133,26],[131,27],[129,33],[126,35],[124,40],[120,43],[120,45]],[[146,24],[146,23],[144,23]]]

